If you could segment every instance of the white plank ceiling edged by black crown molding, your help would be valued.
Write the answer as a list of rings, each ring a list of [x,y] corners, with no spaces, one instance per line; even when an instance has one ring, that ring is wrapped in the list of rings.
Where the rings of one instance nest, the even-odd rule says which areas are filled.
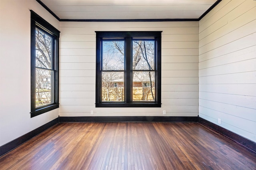
[[[198,19],[216,0],[41,0],[60,19]]]

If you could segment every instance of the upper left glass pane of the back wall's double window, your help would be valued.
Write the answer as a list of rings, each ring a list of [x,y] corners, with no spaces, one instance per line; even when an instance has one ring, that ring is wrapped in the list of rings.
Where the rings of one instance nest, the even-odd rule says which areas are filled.
[[[102,42],[103,70],[124,70],[124,41]]]

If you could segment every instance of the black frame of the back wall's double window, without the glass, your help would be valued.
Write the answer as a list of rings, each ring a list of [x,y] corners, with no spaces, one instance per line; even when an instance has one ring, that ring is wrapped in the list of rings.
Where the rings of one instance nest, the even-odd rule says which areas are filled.
[[[161,34],[162,31],[101,32],[96,31],[96,107],[161,107]],[[101,94],[101,43],[104,39],[124,39],[124,102],[102,102]],[[155,101],[132,101],[132,39],[154,39],[155,52]]]

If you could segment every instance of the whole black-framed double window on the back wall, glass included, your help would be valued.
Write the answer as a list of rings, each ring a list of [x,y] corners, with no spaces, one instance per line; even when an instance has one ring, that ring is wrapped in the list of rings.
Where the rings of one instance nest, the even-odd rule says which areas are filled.
[[[96,107],[161,107],[161,32],[96,32]]]

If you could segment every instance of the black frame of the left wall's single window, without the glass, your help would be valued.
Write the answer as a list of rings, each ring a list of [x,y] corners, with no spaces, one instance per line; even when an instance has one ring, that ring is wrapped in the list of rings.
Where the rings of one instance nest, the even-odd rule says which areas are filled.
[[[59,107],[59,38],[60,31],[46,20],[30,10],[31,30],[31,112],[30,117],[35,117]],[[51,78],[53,102],[41,107],[36,107],[36,28],[52,37],[52,71]]]

